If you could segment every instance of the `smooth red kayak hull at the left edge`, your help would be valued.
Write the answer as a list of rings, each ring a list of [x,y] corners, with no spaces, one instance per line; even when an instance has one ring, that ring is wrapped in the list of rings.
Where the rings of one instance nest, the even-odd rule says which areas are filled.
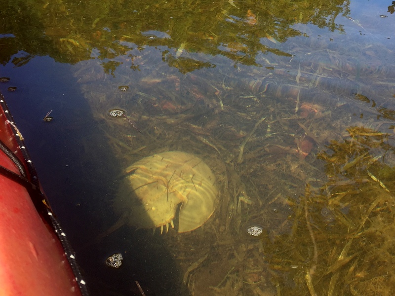
[[[0,110],[0,140],[18,158],[20,149]],[[0,165],[19,174],[0,150]],[[28,190],[0,174],[0,295],[79,296],[75,275],[53,230]]]

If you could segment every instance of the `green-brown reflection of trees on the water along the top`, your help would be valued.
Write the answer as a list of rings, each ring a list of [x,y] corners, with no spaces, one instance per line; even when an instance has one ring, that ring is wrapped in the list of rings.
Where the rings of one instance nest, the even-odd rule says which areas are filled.
[[[124,55],[132,47],[165,46],[164,61],[181,72],[212,67],[196,55],[222,54],[238,63],[255,65],[260,52],[284,55],[272,45],[301,36],[296,23],[313,23],[342,32],[336,17],[347,15],[346,1],[6,1],[0,12],[1,63],[23,50],[75,63]],[[149,34],[147,34],[149,32]],[[16,64],[21,65],[21,64]],[[103,64],[107,67],[108,64]],[[111,72],[111,70],[107,70]]]

